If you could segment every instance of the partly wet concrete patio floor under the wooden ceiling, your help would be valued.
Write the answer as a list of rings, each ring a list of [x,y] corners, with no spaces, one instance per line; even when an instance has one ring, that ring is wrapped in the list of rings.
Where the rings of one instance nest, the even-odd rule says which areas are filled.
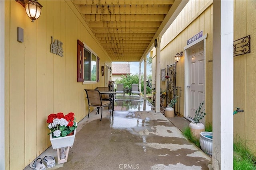
[[[188,141],[162,113],[116,109],[113,118],[104,109],[100,121],[94,110],[89,119],[85,117],[78,123],[67,162],[58,164],[57,151],[52,147],[38,156],[55,157],[56,165],[46,169],[212,169],[212,159]],[[28,169],[31,168],[27,166],[25,170]]]

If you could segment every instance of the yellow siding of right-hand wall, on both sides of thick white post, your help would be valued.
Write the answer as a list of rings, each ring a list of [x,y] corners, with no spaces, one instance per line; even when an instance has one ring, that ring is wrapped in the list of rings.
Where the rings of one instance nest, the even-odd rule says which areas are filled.
[[[195,8],[198,9],[195,13]],[[234,1],[234,40],[247,35],[251,36],[251,52],[234,57],[234,110],[244,109],[243,113],[234,115],[234,137],[246,141],[252,152],[256,152],[256,1]],[[184,10],[162,36],[161,69],[175,63],[174,55],[186,46],[186,40],[203,31],[206,39],[205,65],[205,107],[206,123],[212,123],[212,1],[190,0]],[[153,49],[155,50],[155,49]],[[154,54],[155,56],[155,54]],[[186,57],[186,56],[184,56]],[[176,86],[182,87],[180,106],[184,106],[184,57],[177,63]],[[152,62],[152,70],[155,65]],[[154,80],[154,72],[152,79]],[[161,88],[166,89],[166,82],[161,82]],[[184,115],[184,108],[180,107]],[[230,113],[231,114],[231,113]],[[227,120],[228,121],[228,120]]]

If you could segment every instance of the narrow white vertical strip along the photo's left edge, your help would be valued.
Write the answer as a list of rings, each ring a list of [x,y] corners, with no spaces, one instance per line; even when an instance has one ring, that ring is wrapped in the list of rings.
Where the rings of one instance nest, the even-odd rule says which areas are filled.
[[[0,169],[5,169],[4,154],[4,1],[0,1]]]

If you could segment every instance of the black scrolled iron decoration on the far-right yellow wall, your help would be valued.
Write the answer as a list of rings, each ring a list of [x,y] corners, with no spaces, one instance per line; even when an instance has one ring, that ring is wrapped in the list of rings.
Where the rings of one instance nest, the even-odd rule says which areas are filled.
[[[234,57],[251,52],[250,40],[251,40],[251,37],[250,35],[248,35],[246,37],[243,37],[234,41],[234,45],[233,45]]]

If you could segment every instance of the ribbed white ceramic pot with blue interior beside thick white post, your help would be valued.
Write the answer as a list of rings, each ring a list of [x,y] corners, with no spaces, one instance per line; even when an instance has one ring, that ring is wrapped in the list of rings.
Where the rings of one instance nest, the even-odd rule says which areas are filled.
[[[201,132],[199,142],[201,149],[212,155],[212,132]]]

